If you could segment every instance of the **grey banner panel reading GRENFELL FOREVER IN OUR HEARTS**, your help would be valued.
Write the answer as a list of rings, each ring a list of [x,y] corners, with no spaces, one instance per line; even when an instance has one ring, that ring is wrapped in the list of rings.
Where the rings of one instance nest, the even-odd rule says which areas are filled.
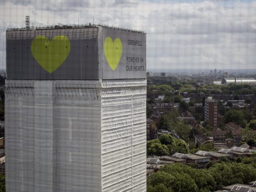
[[[146,34],[103,28],[102,44],[103,79],[146,78]]]

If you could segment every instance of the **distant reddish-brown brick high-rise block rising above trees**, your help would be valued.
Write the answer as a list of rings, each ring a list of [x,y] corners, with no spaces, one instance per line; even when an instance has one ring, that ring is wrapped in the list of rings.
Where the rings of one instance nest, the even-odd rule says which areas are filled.
[[[209,122],[209,125],[217,129],[218,126],[218,102],[212,97],[205,99],[204,105],[204,120]]]

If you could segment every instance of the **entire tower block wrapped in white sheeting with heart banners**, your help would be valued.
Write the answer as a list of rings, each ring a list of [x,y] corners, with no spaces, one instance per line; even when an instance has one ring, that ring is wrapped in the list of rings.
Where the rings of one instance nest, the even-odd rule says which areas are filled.
[[[6,31],[6,191],[146,191],[146,34]]]

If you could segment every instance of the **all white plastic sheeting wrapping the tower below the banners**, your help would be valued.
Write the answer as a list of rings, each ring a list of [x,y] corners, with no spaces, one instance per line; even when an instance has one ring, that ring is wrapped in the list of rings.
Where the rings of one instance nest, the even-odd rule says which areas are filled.
[[[6,81],[7,191],[146,191],[146,79]]]

